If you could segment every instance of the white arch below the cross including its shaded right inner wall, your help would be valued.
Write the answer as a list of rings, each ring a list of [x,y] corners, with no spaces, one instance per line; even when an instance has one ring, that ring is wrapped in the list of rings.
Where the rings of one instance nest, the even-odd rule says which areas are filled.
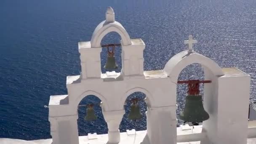
[[[165,65],[164,72],[171,78],[173,82],[173,101],[176,101],[176,83],[180,72],[190,64],[201,64],[204,70],[206,80],[212,80],[209,85],[204,85],[204,108],[210,115],[210,119],[203,122],[203,127],[208,129],[209,125],[217,119],[218,111],[218,77],[224,75],[224,72],[215,61],[199,54],[199,53],[188,53],[188,51],[182,51],[173,56]],[[211,126],[210,126],[211,127]],[[210,128],[209,127],[209,128]],[[211,127],[213,128],[213,127]]]

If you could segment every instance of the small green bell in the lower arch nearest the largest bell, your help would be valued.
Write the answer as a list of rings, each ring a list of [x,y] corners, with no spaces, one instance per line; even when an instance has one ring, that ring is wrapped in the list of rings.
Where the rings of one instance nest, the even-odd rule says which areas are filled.
[[[133,103],[131,104],[131,111],[128,114],[128,119],[130,119],[130,120],[141,119],[142,115],[140,112],[138,99],[133,99],[132,101],[133,101]]]

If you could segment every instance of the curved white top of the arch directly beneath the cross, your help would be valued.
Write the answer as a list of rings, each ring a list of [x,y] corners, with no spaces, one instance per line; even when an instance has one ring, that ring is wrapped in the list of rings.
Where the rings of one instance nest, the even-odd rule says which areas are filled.
[[[199,53],[188,53],[182,51],[173,56],[167,64],[165,64],[164,72],[166,75],[171,77],[171,80],[176,83],[182,69],[190,64],[201,64],[204,71],[205,69],[210,70],[214,76],[222,76],[224,73],[215,61],[199,54]]]

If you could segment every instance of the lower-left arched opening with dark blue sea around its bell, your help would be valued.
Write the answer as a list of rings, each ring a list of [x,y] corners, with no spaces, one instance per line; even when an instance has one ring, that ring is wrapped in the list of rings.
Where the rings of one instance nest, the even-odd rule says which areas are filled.
[[[88,133],[104,134],[107,133],[107,123],[104,120],[102,109],[100,107],[101,99],[94,95],[85,96],[77,107],[78,111],[78,134],[79,136],[87,136]],[[97,117],[96,120],[86,121],[85,116],[87,115],[86,109],[88,104],[94,104],[93,109]],[[85,106],[86,105],[86,106]]]

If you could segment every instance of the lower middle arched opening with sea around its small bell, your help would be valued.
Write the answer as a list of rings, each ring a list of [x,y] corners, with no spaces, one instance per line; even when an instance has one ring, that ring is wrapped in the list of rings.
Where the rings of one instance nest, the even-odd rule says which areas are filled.
[[[141,112],[141,119],[139,120],[130,120],[128,118],[128,114],[131,112],[131,104],[132,100],[134,98],[139,99],[138,104]],[[126,130],[135,129],[136,131],[142,131],[147,129],[147,117],[146,117],[146,111],[147,111],[147,104],[144,101],[146,98],[146,94],[142,92],[134,92],[131,93],[127,98],[124,105],[125,108],[125,115],[123,116],[123,119],[120,124],[120,132],[126,132]]]

